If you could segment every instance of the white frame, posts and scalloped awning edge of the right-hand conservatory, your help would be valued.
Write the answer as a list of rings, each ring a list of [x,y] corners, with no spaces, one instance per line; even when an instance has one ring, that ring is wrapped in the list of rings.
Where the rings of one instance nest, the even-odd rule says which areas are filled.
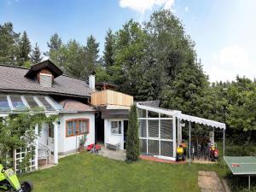
[[[139,102],[137,102],[137,108],[146,110],[146,118],[138,118],[138,119],[165,119],[165,118],[160,117],[160,113],[172,116],[172,118],[166,118],[166,119],[172,119],[172,129],[173,129],[173,132],[172,132],[172,134],[173,134],[173,139],[172,139],[173,158],[170,158],[170,159],[174,159],[174,160],[176,159],[176,148],[177,148],[176,121],[177,121],[178,126],[180,125],[181,120],[185,120],[185,121],[189,122],[189,163],[191,163],[191,158],[190,158],[191,157],[191,122],[195,122],[195,123],[201,124],[201,125],[208,125],[208,126],[211,126],[212,128],[215,127],[215,128],[223,129],[223,140],[224,140],[223,148],[225,146],[226,125],[224,123],[220,123],[218,121],[214,121],[214,120],[210,120],[210,119],[203,119],[203,118],[195,117],[195,116],[188,115],[188,114],[183,114],[181,111],[177,111],[177,110],[168,110],[165,108],[154,108],[154,107],[140,104]],[[148,118],[148,111],[159,113],[159,118]],[[148,127],[148,120],[146,121],[146,124]],[[159,129],[160,129],[160,126],[159,126]],[[148,128],[147,128],[147,131],[148,131]],[[147,137],[140,137],[140,138],[147,139],[147,145],[148,145],[148,132],[147,132]],[[154,138],[152,138],[152,139],[154,140]],[[224,148],[224,150],[225,150],[225,148]],[[148,147],[147,147],[147,154],[148,154]],[[163,157],[160,157],[160,158],[163,158]]]

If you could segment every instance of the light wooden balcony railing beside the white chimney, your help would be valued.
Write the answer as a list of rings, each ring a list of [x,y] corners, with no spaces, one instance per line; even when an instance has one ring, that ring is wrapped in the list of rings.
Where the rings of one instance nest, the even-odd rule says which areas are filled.
[[[94,106],[131,107],[133,96],[114,90],[102,90],[91,94],[91,104]]]

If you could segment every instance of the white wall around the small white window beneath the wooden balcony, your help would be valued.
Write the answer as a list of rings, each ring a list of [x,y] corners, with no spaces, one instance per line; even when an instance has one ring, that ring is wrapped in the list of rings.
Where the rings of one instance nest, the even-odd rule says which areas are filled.
[[[120,120],[122,122],[122,134],[113,134],[110,130],[111,120]],[[124,120],[126,119],[104,119],[104,144],[107,147],[107,143],[119,143],[121,150],[124,150]]]

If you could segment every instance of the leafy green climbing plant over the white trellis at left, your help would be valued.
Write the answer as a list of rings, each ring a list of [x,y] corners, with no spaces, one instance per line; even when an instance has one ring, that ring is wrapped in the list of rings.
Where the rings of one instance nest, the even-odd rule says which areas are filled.
[[[9,114],[0,119],[0,163],[4,166],[13,166],[13,151],[15,148],[30,146],[37,137],[34,128],[38,125],[41,131],[43,123],[51,123],[55,115],[46,116],[42,108],[23,111],[22,113]],[[20,139],[23,137],[23,139]],[[21,166],[26,167],[32,154],[24,157]]]

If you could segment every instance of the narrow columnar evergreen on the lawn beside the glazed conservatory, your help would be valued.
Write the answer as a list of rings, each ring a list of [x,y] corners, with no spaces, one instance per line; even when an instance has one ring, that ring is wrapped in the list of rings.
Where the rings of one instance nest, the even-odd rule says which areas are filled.
[[[129,113],[127,142],[126,142],[126,159],[128,161],[137,160],[139,157],[139,137],[138,137],[138,121],[137,106],[133,104]]]

